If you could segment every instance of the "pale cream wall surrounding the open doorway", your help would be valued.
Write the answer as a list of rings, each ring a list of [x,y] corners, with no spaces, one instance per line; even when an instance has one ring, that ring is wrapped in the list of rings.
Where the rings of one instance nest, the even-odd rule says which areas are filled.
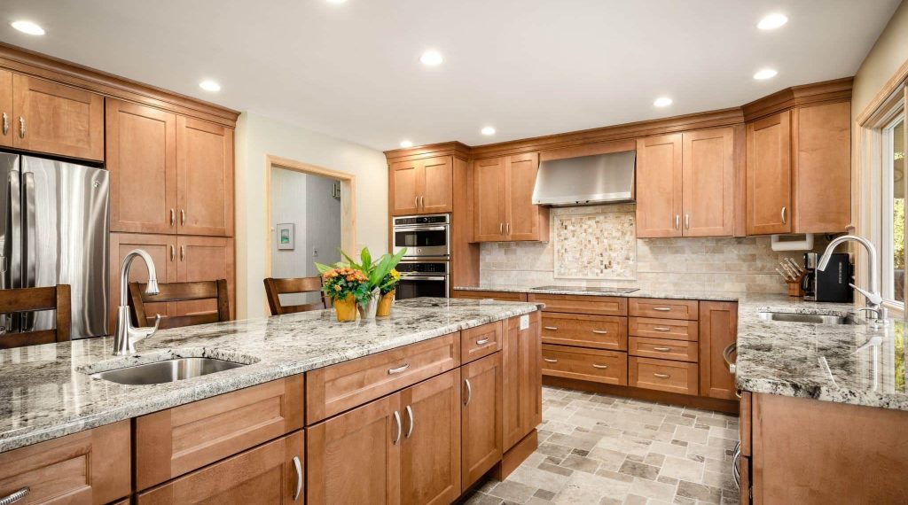
[[[289,123],[243,112],[236,130],[236,314],[266,316],[262,279],[268,254],[265,156],[356,176],[356,240],[388,250],[388,169],[384,154]]]

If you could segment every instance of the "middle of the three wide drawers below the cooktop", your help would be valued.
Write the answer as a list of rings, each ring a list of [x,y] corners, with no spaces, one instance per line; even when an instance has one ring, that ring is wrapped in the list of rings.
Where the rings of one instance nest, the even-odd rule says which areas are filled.
[[[542,342],[627,350],[627,317],[543,313]]]

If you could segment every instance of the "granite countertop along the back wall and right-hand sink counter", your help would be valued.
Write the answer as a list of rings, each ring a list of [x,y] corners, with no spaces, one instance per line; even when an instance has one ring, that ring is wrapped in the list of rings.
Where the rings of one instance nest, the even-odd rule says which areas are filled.
[[[466,291],[687,298],[738,303],[737,387],[752,393],[814,398],[908,411],[904,325],[818,325],[765,321],[760,312],[848,316],[851,304],[806,302],[771,294],[640,290],[587,293],[525,286],[458,286]],[[859,321],[866,323],[865,321]]]

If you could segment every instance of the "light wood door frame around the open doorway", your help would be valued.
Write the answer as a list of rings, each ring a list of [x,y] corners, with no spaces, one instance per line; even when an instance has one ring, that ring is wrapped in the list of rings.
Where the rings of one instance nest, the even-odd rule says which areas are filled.
[[[356,176],[318,165],[265,155],[265,277],[271,277],[271,170],[283,169],[341,181],[341,249],[352,255],[356,248]]]

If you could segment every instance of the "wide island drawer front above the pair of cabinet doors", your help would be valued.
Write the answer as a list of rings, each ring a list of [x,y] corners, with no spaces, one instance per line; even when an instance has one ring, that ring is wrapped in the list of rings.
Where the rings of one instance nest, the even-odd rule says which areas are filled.
[[[460,365],[460,333],[332,364],[306,373],[312,424]]]

